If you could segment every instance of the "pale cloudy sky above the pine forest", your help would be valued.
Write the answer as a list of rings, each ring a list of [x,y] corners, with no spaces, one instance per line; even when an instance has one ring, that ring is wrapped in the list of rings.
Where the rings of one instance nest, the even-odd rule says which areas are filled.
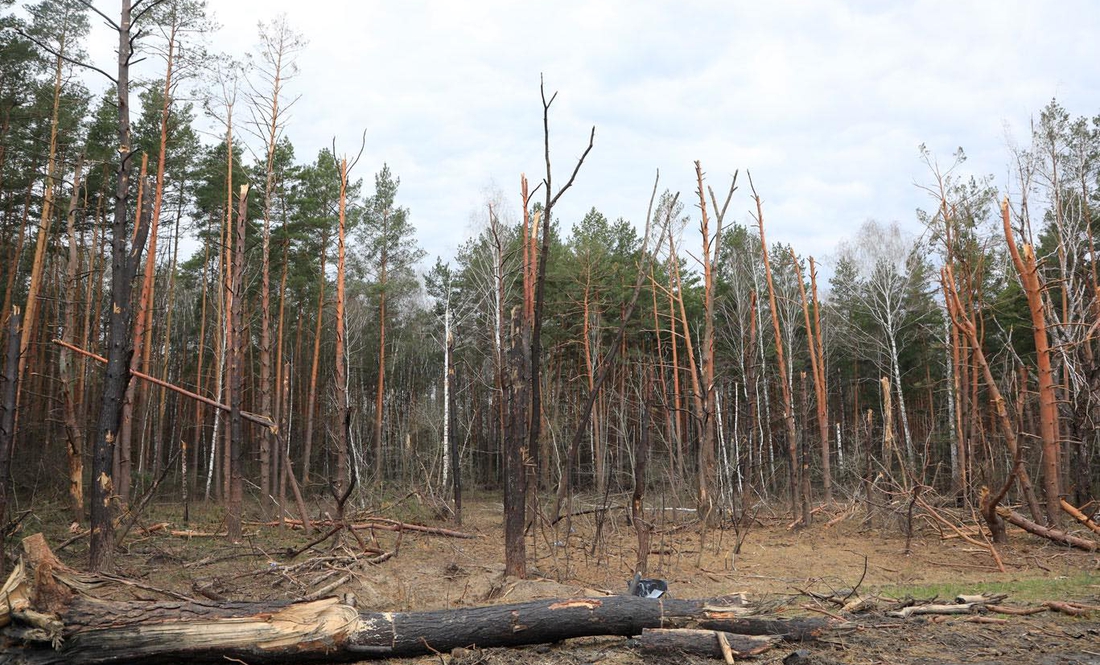
[[[100,2],[114,13],[114,3]],[[518,214],[519,176],[544,176],[539,78],[568,228],[595,207],[640,225],[661,188],[694,202],[694,160],[716,192],[740,170],[727,221],[752,223],[746,170],[769,241],[827,262],[868,219],[920,232],[934,202],[926,144],[965,173],[1010,182],[1009,146],[1057,98],[1100,112],[1100,3],[1048,1],[232,0],[211,1],[213,49],[243,58],[257,22],[285,13],[308,45],[287,95],[299,160],[336,141],[370,190],[400,177],[430,264],[477,232],[486,192]],[[111,8],[111,9],[109,9]],[[113,63],[92,20],[89,55]],[[541,198],[541,197],[540,197]],[[694,218],[697,220],[697,213]],[[697,240],[684,239],[690,246]],[[690,247],[689,247],[690,248]]]

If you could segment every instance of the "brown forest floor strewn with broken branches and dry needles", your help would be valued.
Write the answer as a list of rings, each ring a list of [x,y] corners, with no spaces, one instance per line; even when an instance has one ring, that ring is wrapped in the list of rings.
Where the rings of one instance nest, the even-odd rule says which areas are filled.
[[[405,531],[363,530],[361,537],[381,556],[356,554],[355,540],[337,534],[289,558],[323,535],[280,531],[260,520],[248,522],[245,539],[231,544],[216,534],[224,529],[220,509],[193,509],[184,525],[178,506],[148,508],[121,543],[118,575],[141,583],[121,587],[120,597],[157,598],[152,589],[190,597],[230,600],[302,599],[350,595],[369,610],[427,610],[518,602],[543,598],[625,592],[631,577],[637,541],[628,524],[628,497],[612,497],[610,510],[578,498],[570,520],[556,525],[537,522],[527,539],[528,579],[506,578],[503,565],[503,507],[498,497],[468,498],[461,525],[439,519],[418,495],[384,505],[372,513],[349,511],[353,520],[367,514],[459,530],[475,537]],[[324,507],[317,509],[323,517]],[[331,512],[331,508],[329,507]],[[1015,665],[1100,665],[1100,610],[1090,617],[1044,612],[1001,617],[1003,623],[972,623],[969,617],[891,619],[881,609],[893,599],[938,598],[958,594],[1008,594],[1005,603],[1037,605],[1075,600],[1100,606],[1100,556],[1056,546],[1022,531],[1010,530],[1010,543],[999,547],[1005,573],[989,553],[938,528],[920,511],[906,545],[905,522],[893,517],[870,524],[862,507],[822,508],[809,529],[795,530],[784,514],[759,511],[748,529],[711,530],[700,554],[694,513],[669,506],[653,511],[649,577],[666,579],[676,598],[713,598],[745,592],[750,600],[780,616],[837,614],[836,605],[814,595],[848,595],[876,600],[879,610],[848,614],[856,628],[829,631],[809,644],[780,645],[754,660],[779,663],[796,650],[809,650],[810,663],[1005,663]],[[900,511],[904,512],[904,511]],[[258,511],[257,511],[258,514]],[[16,539],[42,531],[54,547],[72,537],[64,510],[38,509],[23,520]],[[571,522],[571,523],[566,523]],[[191,535],[182,535],[190,530]],[[173,534],[176,531],[176,534]],[[598,534],[598,537],[597,537]],[[740,552],[734,554],[738,537]],[[980,536],[978,536],[980,539]],[[398,541],[398,539],[400,539]],[[87,539],[76,539],[58,552],[63,561],[84,567]],[[991,617],[999,617],[993,616]],[[631,665],[702,663],[693,656],[654,658],[620,638],[570,640],[525,649],[464,651],[446,656],[397,661],[411,665],[510,663]]]

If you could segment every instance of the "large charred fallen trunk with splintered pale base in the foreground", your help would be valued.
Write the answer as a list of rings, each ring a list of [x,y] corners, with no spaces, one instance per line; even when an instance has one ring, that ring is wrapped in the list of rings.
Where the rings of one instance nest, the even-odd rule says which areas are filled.
[[[0,639],[13,663],[346,662],[515,646],[644,629],[706,628],[809,639],[817,619],[757,619],[744,603],[632,596],[540,600],[425,612],[360,612],[311,602],[101,600],[99,581],[62,564],[41,534],[0,589]],[[3,660],[3,658],[0,658]],[[7,662],[7,661],[6,661]]]

